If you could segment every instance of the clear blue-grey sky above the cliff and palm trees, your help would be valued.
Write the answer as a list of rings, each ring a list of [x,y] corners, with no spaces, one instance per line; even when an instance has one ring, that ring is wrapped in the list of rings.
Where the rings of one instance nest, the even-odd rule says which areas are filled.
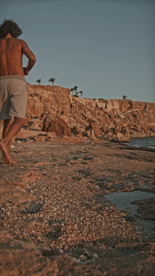
[[[25,79],[83,97],[155,101],[154,0],[0,0],[37,61]],[[26,58],[23,65],[27,66]]]

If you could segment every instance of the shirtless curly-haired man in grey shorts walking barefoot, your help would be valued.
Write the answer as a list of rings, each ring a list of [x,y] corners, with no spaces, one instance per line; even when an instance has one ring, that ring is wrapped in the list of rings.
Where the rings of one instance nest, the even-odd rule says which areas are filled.
[[[28,95],[24,75],[36,61],[27,43],[18,39],[20,34],[22,30],[12,20],[0,25],[0,120],[4,120],[0,151],[6,165],[16,163],[10,156],[10,141],[24,125]],[[22,66],[23,54],[29,59],[27,67]]]

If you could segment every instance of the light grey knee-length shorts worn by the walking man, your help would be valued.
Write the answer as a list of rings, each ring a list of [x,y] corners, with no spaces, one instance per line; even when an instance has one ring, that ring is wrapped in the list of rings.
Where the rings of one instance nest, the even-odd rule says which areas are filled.
[[[24,77],[0,77],[0,120],[11,119],[12,116],[25,119],[28,88]]]

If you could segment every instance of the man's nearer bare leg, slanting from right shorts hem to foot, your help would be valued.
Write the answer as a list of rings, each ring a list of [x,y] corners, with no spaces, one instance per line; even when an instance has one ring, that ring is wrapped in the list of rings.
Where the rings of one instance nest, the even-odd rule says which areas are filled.
[[[2,152],[2,159],[5,164],[14,164],[11,159],[10,153],[8,152],[8,147],[10,145],[11,139],[20,131],[24,125],[24,119],[20,117],[14,117],[14,122],[10,125],[6,136],[0,142],[0,151]]]

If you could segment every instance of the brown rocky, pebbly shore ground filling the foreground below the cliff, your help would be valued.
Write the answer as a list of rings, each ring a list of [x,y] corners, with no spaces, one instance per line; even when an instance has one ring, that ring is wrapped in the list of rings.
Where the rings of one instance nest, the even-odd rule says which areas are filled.
[[[154,241],[105,198],[155,193],[154,150],[68,139],[12,141],[18,163],[0,162],[1,275],[154,275]]]

